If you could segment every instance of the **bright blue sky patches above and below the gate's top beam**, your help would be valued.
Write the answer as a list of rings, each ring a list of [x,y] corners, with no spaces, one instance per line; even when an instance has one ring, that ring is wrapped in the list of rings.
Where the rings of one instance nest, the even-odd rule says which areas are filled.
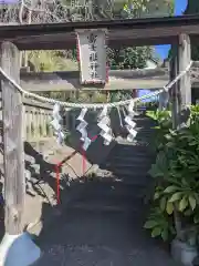
[[[198,1],[198,0],[196,0]],[[181,14],[187,7],[187,0],[176,0],[175,1],[175,14]],[[170,45],[158,45],[156,47],[157,53],[160,55],[161,59],[167,58],[168,50]]]

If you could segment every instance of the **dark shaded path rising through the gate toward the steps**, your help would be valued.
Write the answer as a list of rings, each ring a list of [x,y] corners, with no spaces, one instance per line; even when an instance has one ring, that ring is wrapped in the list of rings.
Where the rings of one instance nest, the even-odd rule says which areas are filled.
[[[139,121],[138,121],[139,122]],[[138,140],[147,140],[147,120]],[[117,144],[51,231],[40,236],[36,266],[178,266],[143,228],[151,156],[147,146]],[[103,177],[102,177],[103,176]],[[48,234],[48,235],[46,235]]]

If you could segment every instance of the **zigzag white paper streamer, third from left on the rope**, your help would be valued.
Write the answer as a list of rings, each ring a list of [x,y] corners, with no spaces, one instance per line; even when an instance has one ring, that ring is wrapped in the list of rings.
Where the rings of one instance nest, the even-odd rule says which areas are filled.
[[[109,127],[109,117],[107,115],[107,108],[105,106],[98,115],[98,127],[102,130],[100,135],[104,139],[104,145],[109,145],[113,140],[112,129]]]

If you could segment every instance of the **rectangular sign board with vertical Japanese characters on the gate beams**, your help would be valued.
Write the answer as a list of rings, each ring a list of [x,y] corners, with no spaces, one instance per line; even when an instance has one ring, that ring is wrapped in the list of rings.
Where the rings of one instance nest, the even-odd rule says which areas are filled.
[[[77,49],[81,71],[81,84],[105,84],[106,68],[106,31],[77,31]]]

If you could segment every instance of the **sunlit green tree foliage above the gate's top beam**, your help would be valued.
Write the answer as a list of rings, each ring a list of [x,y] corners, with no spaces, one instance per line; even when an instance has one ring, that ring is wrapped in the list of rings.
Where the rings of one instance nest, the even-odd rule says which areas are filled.
[[[78,0],[71,7],[71,0],[61,0],[67,7],[71,20],[91,20],[107,18],[139,18],[174,13],[174,0]]]

